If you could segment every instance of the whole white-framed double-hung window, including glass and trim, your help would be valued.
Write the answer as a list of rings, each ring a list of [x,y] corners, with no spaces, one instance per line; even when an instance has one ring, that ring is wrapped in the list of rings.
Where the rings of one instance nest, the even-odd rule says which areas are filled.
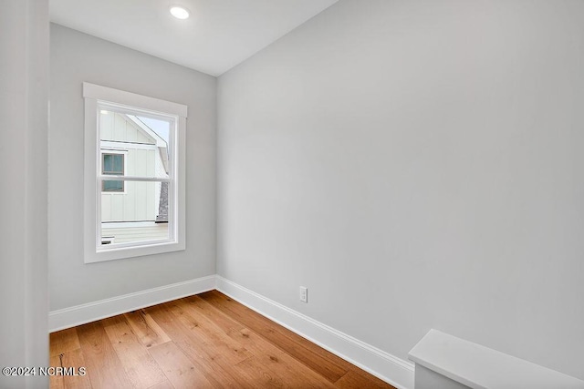
[[[187,107],[89,83],[83,97],[85,262],[184,250]]]

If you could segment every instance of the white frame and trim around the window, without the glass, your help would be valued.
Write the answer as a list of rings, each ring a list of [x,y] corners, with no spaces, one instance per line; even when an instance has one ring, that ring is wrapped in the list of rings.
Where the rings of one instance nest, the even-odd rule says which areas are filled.
[[[143,255],[182,251],[185,249],[185,140],[187,107],[154,97],[141,96],[111,87],[83,83],[85,98],[85,167],[84,167],[84,261],[85,263],[120,260]],[[127,107],[145,115],[172,117],[176,130],[171,131],[170,142],[174,146],[172,172],[168,179],[169,202],[169,239],[163,241],[145,241],[128,243],[113,247],[101,244],[100,207],[101,202],[101,150],[99,142],[99,109],[102,106]],[[101,107],[101,108],[100,108]],[[100,177],[99,177],[100,176]],[[130,176],[118,176],[123,180],[136,180]],[[125,187],[125,186],[124,186]],[[108,192],[106,192],[108,193]],[[171,210],[172,208],[172,210]]]

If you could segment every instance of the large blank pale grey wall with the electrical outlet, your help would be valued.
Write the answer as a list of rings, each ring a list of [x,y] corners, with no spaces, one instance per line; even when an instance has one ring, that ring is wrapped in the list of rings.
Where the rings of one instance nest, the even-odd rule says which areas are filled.
[[[219,78],[218,273],[584,378],[583,68],[582,1],[339,1]]]

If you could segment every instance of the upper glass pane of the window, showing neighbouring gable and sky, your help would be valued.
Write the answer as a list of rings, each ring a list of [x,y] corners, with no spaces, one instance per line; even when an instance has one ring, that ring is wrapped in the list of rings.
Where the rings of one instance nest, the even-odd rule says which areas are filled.
[[[102,172],[168,179],[173,128],[172,119],[100,109],[99,148],[104,156]]]

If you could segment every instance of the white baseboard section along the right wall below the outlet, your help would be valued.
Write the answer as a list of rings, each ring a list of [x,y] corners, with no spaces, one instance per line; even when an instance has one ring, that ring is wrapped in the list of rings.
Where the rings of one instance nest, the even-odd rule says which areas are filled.
[[[381,380],[399,389],[413,389],[413,363],[341,333],[219,275],[216,276],[216,289]]]

